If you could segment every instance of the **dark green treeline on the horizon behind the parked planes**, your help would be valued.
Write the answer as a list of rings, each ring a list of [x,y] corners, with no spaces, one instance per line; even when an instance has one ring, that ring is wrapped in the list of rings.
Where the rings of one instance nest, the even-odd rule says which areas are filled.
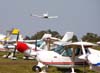
[[[39,31],[36,34],[32,35],[31,37],[26,36],[24,39],[28,39],[28,40],[41,39],[41,37],[44,35],[44,33],[50,33],[50,34],[52,34],[53,37],[57,37],[57,38],[63,37],[63,35],[61,35],[59,32],[52,31],[49,29],[49,30]],[[95,33],[87,32],[85,35],[82,36],[81,39],[83,41],[87,41],[87,42],[98,42],[98,41],[100,41],[100,36]],[[73,36],[72,41],[73,42],[78,41],[77,35]]]

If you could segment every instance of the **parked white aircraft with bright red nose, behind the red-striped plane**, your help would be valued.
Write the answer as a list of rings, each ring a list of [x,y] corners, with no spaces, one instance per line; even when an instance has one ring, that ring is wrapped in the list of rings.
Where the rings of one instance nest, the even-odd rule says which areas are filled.
[[[62,39],[58,39],[58,38],[52,37],[51,34],[44,34],[43,38],[41,39],[41,41],[43,41],[43,42],[41,44],[39,44],[38,47],[36,46],[36,45],[38,45],[38,40],[37,40],[36,45],[35,44],[28,44],[28,43],[24,43],[24,42],[18,42],[17,43],[17,45],[18,45],[17,46],[17,50],[19,52],[24,53],[25,55],[28,54],[28,56],[34,55],[34,54],[36,54],[36,51],[48,50],[49,47],[48,47],[48,42],[47,41],[56,40],[56,41],[59,41],[61,43],[62,42],[64,42],[64,43],[65,42],[69,42],[69,40],[73,37],[73,34],[74,34],[73,32],[66,32]],[[23,45],[25,47],[23,47]],[[57,43],[56,43],[56,45],[57,45]],[[49,49],[51,50],[53,47],[55,47],[55,45],[50,45]],[[25,49],[25,48],[27,48],[27,49]],[[30,53],[30,55],[29,55],[29,53]]]

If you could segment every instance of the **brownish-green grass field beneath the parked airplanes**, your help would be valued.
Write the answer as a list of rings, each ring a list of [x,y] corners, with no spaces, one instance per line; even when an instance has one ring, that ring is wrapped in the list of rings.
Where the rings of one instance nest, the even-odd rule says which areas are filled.
[[[32,66],[37,64],[35,60],[23,60],[22,54],[17,54],[17,60],[4,59],[2,56],[5,52],[0,52],[0,73],[35,73],[32,71]],[[77,73],[84,73],[83,67],[75,69]],[[48,73],[64,73],[67,69],[58,69],[56,67],[49,67]],[[86,67],[86,73],[97,73],[91,71]]]

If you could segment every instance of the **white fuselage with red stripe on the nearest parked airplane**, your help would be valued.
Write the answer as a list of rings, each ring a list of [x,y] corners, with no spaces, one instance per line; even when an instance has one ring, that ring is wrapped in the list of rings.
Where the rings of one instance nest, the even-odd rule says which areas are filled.
[[[66,67],[70,68],[73,66],[72,57],[62,56],[54,51],[39,51],[37,53],[37,60],[45,65],[56,66],[56,67]],[[83,60],[75,57],[75,65],[82,65]]]

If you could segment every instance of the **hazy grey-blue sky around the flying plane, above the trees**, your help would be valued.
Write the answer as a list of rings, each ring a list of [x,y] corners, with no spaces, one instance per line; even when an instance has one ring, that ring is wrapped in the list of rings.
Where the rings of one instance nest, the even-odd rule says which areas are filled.
[[[48,12],[57,19],[41,19],[30,14]],[[0,33],[20,29],[24,36],[51,29],[64,35],[88,32],[100,36],[100,0],[0,0]]]

